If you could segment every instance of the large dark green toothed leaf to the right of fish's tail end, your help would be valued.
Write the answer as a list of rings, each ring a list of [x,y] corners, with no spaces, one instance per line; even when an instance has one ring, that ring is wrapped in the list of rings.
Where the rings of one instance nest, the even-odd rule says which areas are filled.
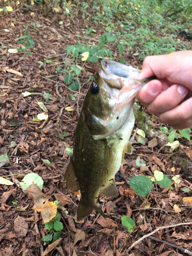
[[[129,183],[134,192],[141,197],[145,197],[153,189],[153,182],[144,175],[129,179]]]

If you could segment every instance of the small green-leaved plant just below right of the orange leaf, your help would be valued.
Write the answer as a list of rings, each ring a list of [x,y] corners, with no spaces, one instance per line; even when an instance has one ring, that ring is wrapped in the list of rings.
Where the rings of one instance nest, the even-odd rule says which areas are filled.
[[[63,228],[63,224],[59,220],[60,220],[60,215],[56,214],[52,220],[45,223],[45,228],[49,230],[49,233],[47,234],[47,236],[41,239],[42,241],[45,241],[47,243],[51,241],[54,242],[60,237],[60,231]]]

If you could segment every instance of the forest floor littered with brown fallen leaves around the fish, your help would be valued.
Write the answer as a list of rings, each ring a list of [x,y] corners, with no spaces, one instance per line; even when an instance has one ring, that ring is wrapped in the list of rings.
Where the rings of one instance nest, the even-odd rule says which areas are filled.
[[[44,180],[42,191],[50,201],[59,200],[68,211],[58,209],[63,223],[60,232],[62,239],[58,244],[53,244],[47,255],[192,255],[191,225],[180,225],[192,221],[191,204],[183,201],[183,198],[191,196],[192,141],[181,137],[180,147],[169,152],[169,147],[163,146],[166,143],[158,138],[153,148],[147,146],[153,139],[147,134],[145,145],[139,144],[135,138],[133,154],[125,156],[124,165],[116,175],[119,196],[100,197],[99,202],[106,219],[93,211],[86,220],[75,222],[73,217],[76,215],[79,196],[63,188],[63,175],[69,162],[66,148],[73,147],[78,112],[90,84],[89,76],[94,75],[95,69],[94,65],[88,63],[80,73],[81,82],[86,84],[80,93],[74,93],[74,100],[69,96],[72,92],[65,85],[64,78],[55,69],[58,66],[64,68],[65,61],[70,63],[66,51],[63,51],[67,46],[77,44],[77,40],[93,44],[94,41],[98,42],[99,36],[88,37],[81,32],[76,33],[83,26],[82,20],[78,23],[74,20],[74,24],[60,28],[59,17],[56,22],[58,14],[54,14],[54,21],[51,16],[46,17],[42,13],[32,17],[30,10],[0,15],[0,45],[7,46],[0,50],[0,155],[7,153],[9,157],[9,163],[1,167],[0,174],[5,177],[17,173],[37,173]],[[10,26],[11,23],[14,27]],[[8,49],[18,48],[15,39],[24,35],[26,27],[35,41],[35,48],[30,50],[32,54],[9,53]],[[111,50],[115,60],[118,60],[117,48],[114,46]],[[131,65],[141,67],[141,61],[132,54],[125,51],[123,57],[129,59]],[[54,56],[51,58],[53,63],[37,63],[45,63],[51,56]],[[21,72],[23,77],[15,76],[10,70],[6,71],[6,67]],[[22,93],[28,89],[31,89],[32,94],[24,97]],[[42,97],[43,92],[52,95],[48,102]],[[45,104],[49,112],[47,120],[32,121],[42,112],[38,102]],[[73,106],[74,110],[67,111],[67,106]],[[146,114],[154,123],[152,129],[158,130],[158,117]],[[63,136],[63,132],[67,134]],[[138,156],[146,162],[145,166],[138,167]],[[46,165],[42,159],[48,159],[52,165]],[[178,184],[173,181],[172,189],[156,185],[147,199],[136,195],[127,179],[136,174],[153,176],[154,170],[163,170],[169,178],[180,175]],[[40,214],[32,209],[33,200],[20,188],[22,178],[11,180],[14,182],[11,186],[0,185],[0,256],[43,255],[48,245],[40,239],[49,230],[42,223]],[[123,215],[135,221],[132,233],[122,226]],[[127,251],[144,234],[168,225],[175,226],[156,230],[153,236],[143,239]]]

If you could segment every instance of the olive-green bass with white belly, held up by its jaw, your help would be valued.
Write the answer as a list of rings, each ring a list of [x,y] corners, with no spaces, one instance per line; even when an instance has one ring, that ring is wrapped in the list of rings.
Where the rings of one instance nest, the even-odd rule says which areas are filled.
[[[83,101],[77,122],[73,155],[64,175],[71,190],[80,190],[77,221],[93,209],[104,213],[99,195],[119,195],[115,174],[125,153],[132,154],[130,137],[135,124],[133,104],[137,92],[155,77],[138,80],[140,72],[109,59],[101,61]]]

